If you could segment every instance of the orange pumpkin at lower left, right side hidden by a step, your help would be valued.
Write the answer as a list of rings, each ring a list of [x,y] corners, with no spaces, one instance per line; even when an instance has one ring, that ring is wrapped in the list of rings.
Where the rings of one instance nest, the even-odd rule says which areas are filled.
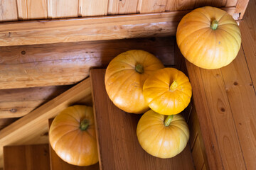
[[[98,162],[92,107],[70,106],[53,120],[50,145],[69,164],[89,166]]]

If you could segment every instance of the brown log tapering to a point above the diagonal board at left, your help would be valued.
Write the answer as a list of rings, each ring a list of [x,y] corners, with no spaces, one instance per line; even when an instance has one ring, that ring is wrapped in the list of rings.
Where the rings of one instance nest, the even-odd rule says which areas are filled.
[[[46,86],[0,90],[0,118],[18,118],[26,115],[71,87]]]

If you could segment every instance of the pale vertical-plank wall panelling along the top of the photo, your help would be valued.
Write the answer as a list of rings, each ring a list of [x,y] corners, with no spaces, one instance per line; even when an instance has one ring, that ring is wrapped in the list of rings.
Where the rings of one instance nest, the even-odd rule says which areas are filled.
[[[239,0],[0,0],[0,21],[180,11],[236,6]]]

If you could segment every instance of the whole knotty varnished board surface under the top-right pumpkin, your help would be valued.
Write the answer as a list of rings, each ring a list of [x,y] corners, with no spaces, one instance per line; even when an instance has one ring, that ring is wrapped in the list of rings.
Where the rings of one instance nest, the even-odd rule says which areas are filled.
[[[186,62],[210,169],[256,169],[255,16],[252,0],[240,22],[242,47],[228,66]]]

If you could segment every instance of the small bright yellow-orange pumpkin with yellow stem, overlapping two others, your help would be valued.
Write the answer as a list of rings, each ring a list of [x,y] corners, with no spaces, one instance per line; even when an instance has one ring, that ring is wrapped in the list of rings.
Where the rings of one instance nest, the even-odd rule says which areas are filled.
[[[149,108],[163,115],[181,113],[191,101],[191,84],[183,72],[174,68],[157,70],[143,86]]]

